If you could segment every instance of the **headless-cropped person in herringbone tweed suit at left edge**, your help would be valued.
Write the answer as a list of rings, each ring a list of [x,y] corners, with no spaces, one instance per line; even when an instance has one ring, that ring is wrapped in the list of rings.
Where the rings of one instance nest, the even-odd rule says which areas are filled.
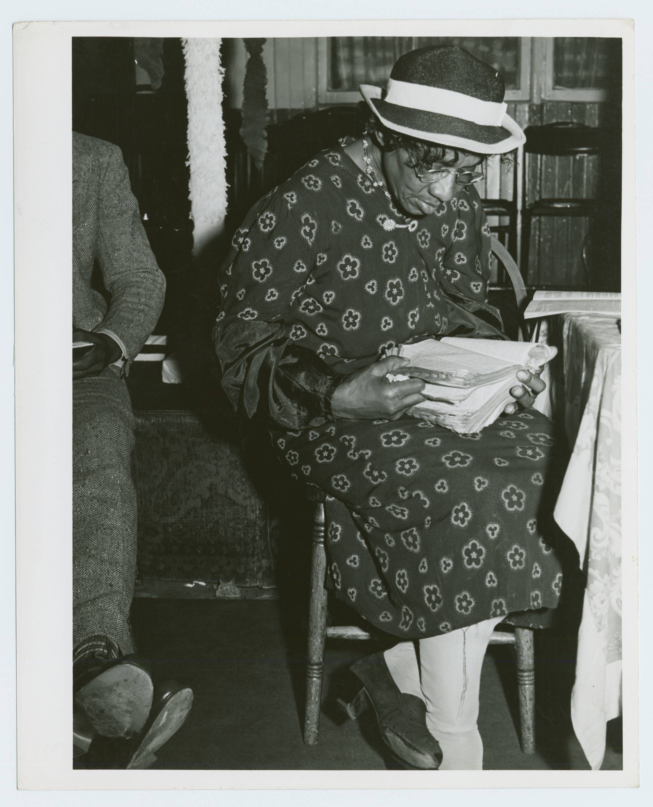
[[[103,291],[91,281],[95,264]],[[164,295],[119,148],[73,132],[73,342],[91,343],[73,349],[73,692],[105,738],[137,739],[157,711],[129,625],[136,491],[124,377],[157,324]],[[159,695],[170,700],[170,687]],[[182,689],[188,709],[189,699],[192,692]]]

